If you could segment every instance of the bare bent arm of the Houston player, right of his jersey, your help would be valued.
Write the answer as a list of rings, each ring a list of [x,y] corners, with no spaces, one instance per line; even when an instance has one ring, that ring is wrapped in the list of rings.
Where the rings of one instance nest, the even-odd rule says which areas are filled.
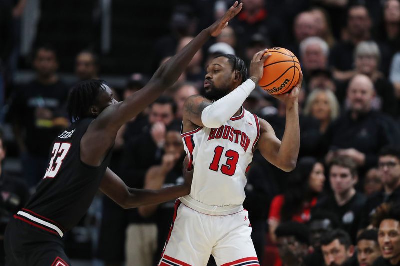
[[[298,94],[301,82],[302,73],[300,73],[300,80],[290,93],[275,96],[286,104],[286,126],[282,141],[276,137],[272,126],[264,119],[260,119],[261,134],[257,148],[271,164],[286,172],[290,172],[296,167],[300,149]]]

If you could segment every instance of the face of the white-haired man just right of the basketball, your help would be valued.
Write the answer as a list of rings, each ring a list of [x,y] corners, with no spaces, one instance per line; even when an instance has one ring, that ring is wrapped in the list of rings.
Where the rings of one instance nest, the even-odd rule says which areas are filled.
[[[327,56],[323,53],[322,48],[317,43],[311,43],[302,54],[303,68],[307,71],[315,69],[324,69],[327,64]]]

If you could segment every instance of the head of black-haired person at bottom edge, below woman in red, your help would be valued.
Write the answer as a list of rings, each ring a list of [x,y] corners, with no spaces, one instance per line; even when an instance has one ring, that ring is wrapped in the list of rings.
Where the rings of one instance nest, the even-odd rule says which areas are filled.
[[[308,254],[309,229],[306,225],[288,221],[276,228],[276,243],[282,266],[306,266]]]

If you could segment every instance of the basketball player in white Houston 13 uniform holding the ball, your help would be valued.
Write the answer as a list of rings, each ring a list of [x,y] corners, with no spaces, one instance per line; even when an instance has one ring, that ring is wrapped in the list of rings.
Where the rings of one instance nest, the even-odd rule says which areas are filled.
[[[210,254],[218,266],[258,266],[243,209],[245,172],[254,149],[284,171],[294,169],[300,145],[298,85],[275,96],[286,104],[280,141],[271,125],[241,105],[263,74],[266,50],[256,53],[250,78],[243,60],[222,55],[207,66],[206,97],[184,104],[182,138],[194,167],[189,195],[176,201],[174,220],[159,266],[205,266]]]

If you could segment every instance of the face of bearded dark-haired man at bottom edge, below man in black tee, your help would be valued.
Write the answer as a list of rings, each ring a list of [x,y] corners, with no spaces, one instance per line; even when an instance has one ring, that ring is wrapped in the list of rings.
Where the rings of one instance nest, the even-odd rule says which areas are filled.
[[[354,247],[346,249],[338,239],[335,239],[327,245],[322,245],[322,253],[326,266],[340,266],[353,256]]]

